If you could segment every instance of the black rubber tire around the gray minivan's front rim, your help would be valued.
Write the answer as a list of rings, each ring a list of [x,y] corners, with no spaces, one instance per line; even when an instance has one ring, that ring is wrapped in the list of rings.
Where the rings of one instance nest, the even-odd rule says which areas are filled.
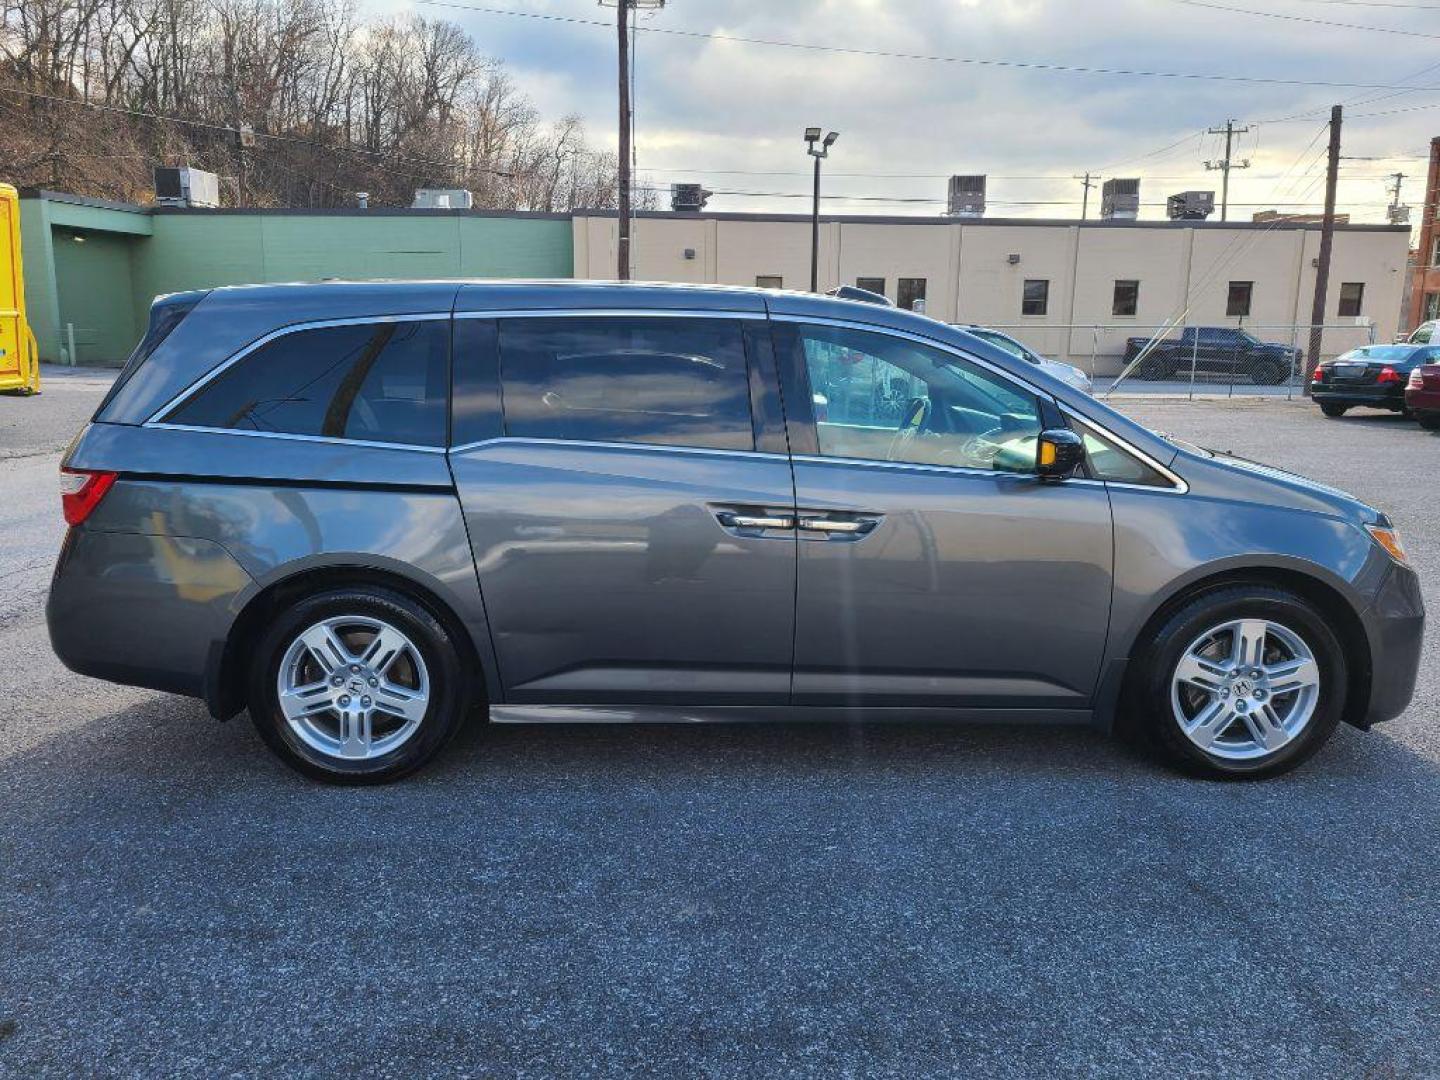
[[[1319,691],[1309,721],[1277,750],[1248,760],[1221,757],[1191,742],[1171,698],[1176,665],[1191,642],[1231,619],[1282,625],[1309,647],[1319,668]],[[1135,664],[1126,694],[1130,730],[1148,736],[1168,765],[1194,776],[1238,780],[1289,772],[1325,744],[1345,711],[1345,651],[1325,615],[1302,596],[1269,585],[1230,585],[1197,595],[1165,621]]]

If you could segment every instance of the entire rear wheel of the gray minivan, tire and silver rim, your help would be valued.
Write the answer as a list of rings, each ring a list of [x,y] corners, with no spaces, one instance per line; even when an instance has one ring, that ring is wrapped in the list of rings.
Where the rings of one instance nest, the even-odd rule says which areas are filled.
[[[464,685],[455,642],[422,605],[389,589],[334,589],[266,628],[251,719],[307,776],[383,783],[445,746],[465,716]]]

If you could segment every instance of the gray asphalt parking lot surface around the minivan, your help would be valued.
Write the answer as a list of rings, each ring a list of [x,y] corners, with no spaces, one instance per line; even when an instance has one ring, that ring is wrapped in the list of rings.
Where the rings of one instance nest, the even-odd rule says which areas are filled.
[[[1259,785],[1083,732],[497,729],[389,788],[66,672],[58,448],[0,397],[0,1074],[1440,1074],[1440,664]],[[1126,399],[1401,524],[1440,439]]]

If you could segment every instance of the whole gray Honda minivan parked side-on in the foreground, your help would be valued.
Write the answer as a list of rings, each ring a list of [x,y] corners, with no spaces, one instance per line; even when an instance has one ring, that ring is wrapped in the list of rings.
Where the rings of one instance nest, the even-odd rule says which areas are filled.
[[[331,780],[481,710],[1092,724],[1263,776],[1401,713],[1424,625],[1349,495],[779,291],[164,297],[60,482],[65,664]]]

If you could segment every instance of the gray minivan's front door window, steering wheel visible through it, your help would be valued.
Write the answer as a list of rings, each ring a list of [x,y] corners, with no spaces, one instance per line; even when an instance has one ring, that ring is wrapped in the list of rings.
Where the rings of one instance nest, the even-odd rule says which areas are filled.
[[[819,452],[829,458],[1032,472],[1040,400],[904,338],[802,327]]]

